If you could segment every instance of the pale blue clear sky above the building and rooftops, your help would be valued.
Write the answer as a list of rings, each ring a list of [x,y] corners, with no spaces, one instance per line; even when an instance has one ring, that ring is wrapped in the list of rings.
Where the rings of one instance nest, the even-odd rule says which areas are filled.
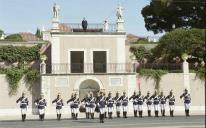
[[[124,7],[125,30],[137,36],[159,36],[148,32],[141,15],[150,0],[0,0],[0,29],[5,33],[32,32],[37,28],[51,28],[52,7],[60,8],[60,22],[88,23],[116,22],[118,3]]]

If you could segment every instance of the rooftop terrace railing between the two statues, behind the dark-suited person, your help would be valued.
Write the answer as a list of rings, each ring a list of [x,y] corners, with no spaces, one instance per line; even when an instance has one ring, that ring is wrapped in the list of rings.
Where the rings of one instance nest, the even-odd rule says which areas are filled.
[[[73,32],[82,32],[82,24],[80,23],[64,23],[72,29]],[[116,32],[116,24],[108,24],[106,29],[103,23],[89,23],[86,32]]]

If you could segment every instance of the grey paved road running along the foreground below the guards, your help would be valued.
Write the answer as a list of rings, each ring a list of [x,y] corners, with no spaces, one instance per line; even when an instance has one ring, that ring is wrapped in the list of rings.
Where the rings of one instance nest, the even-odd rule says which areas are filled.
[[[194,115],[191,117],[144,117],[112,120],[106,119],[104,124],[100,124],[98,119],[63,119],[56,121],[48,119],[45,121],[28,120],[21,121],[0,121],[0,128],[205,128],[205,116]]]

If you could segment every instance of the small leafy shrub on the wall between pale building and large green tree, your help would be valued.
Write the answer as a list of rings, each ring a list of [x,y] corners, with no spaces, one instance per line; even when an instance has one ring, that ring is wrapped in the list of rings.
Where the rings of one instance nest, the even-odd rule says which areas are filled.
[[[144,63],[146,58],[150,57],[150,52],[143,46],[130,47],[130,52],[132,52],[136,60],[140,63]]]

